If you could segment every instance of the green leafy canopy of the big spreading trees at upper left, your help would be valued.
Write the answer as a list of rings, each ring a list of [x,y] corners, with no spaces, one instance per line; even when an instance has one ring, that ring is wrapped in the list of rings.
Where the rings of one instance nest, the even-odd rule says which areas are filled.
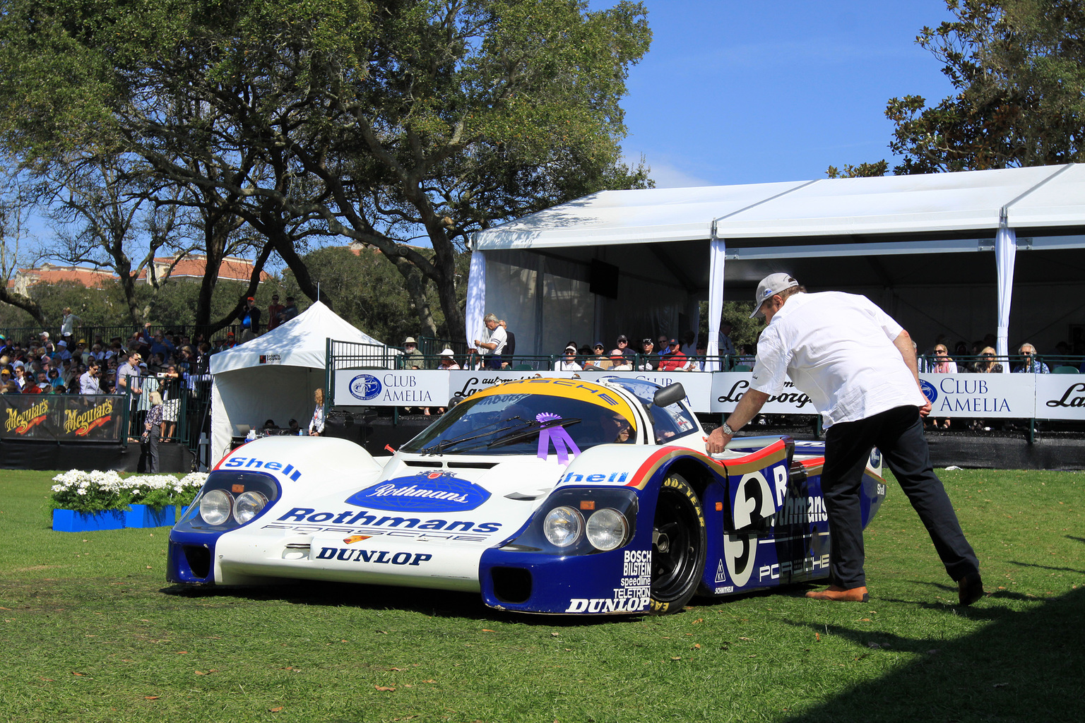
[[[164,185],[214,191],[310,296],[305,234],[371,244],[422,331],[441,323],[432,284],[459,336],[471,232],[650,184],[618,146],[646,14],[625,0],[7,0],[0,143],[35,166],[130,154]],[[407,245],[419,236],[432,254]]]

